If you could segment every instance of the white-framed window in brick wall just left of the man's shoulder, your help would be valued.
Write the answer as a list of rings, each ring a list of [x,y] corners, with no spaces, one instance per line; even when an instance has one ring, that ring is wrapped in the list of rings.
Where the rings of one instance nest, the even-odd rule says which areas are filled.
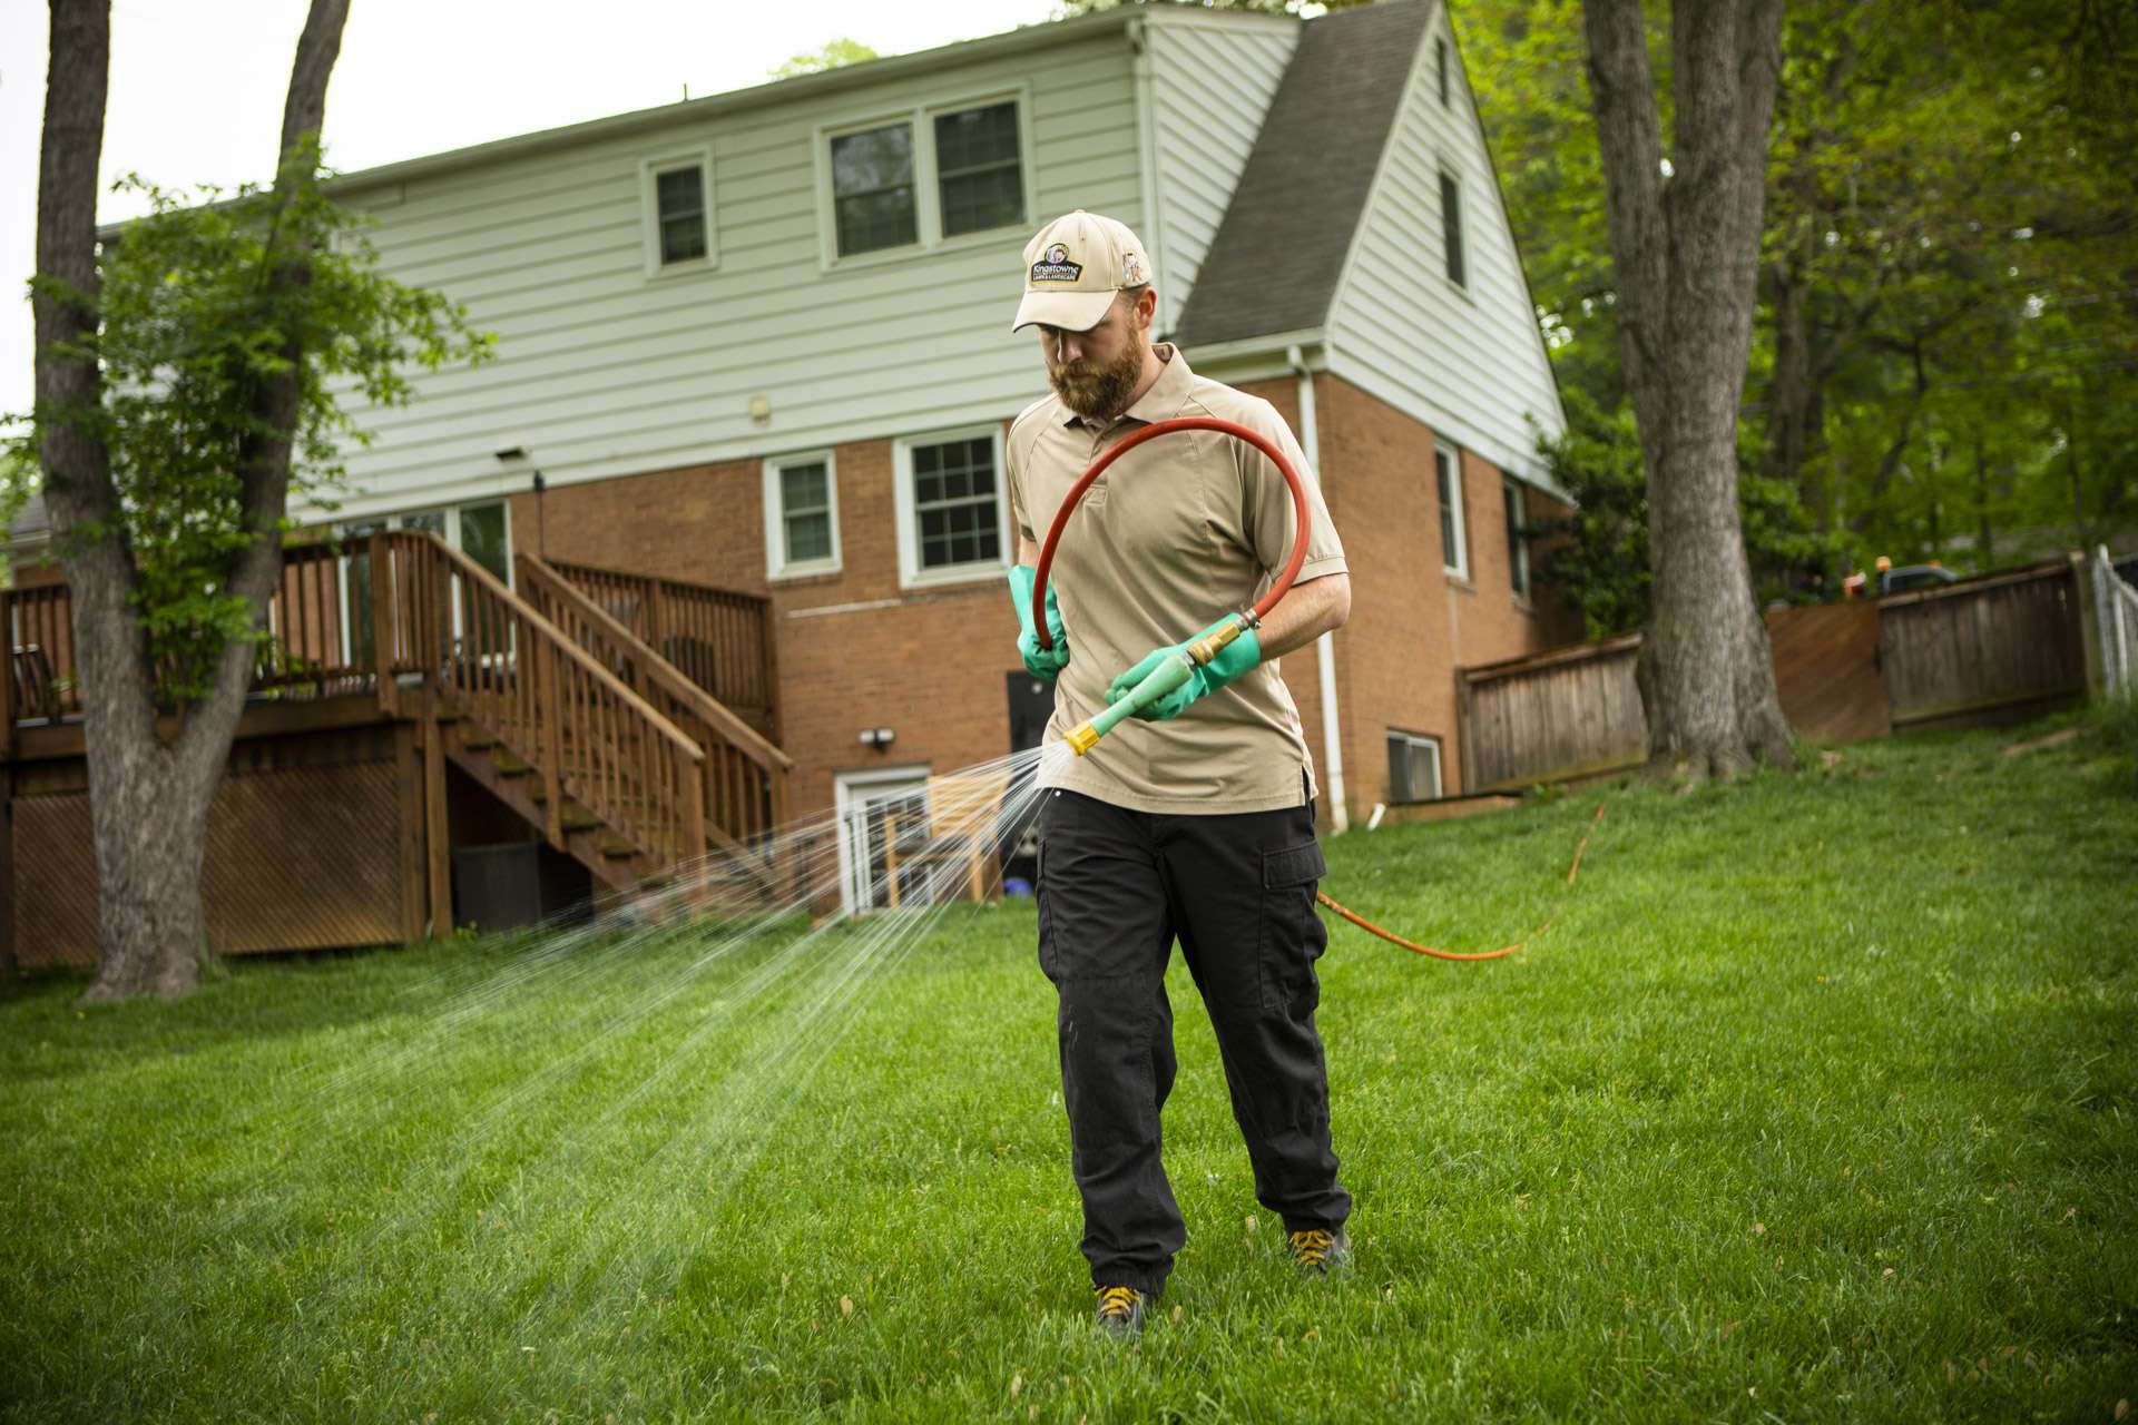
[[[896,444],[898,564],[907,585],[1007,568],[1003,432],[945,432]]]

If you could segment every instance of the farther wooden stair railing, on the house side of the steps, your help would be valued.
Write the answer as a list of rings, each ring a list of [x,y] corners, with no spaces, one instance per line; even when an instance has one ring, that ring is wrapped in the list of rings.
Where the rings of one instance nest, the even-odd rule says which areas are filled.
[[[522,555],[517,573],[520,592],[537,613],[703,748],[714,840],[729,850],[765,844],[787,820],[793,761],[554,566]]]

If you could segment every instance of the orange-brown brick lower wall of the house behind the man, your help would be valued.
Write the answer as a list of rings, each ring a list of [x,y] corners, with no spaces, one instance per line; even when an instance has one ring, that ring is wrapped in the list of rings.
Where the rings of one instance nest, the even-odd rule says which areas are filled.
[[[1255,382],[1298,429],[1298,385]],[[1351,624],[1336,635],[1351,816],[1388,795],[1388,729],[1441,737],[1458,790],[1454,669],[1563,641],[1550,607],[1518,607],[1507,579],[1499,470],[1465,453],[1471,581],[1441,573],[1432,432],[1332,376],[1315,378],[1323,496],[1351,562]],[[761,464],[727,461],[513,496],[513,538],[552,558],[768,594],[778,643],[783,746],[793,812],[832,805],[842,771],[949,771],[1009,750],[1005,675],[1016,624],[998,577],[898,588],[892,442],[834,451],[840,573],[765,579]],[[1541,496],[1537,496],[1541,500]],[[1193,630],[1182,630],[1182,635]],[[1306,746],[1323,771],[1315,649],[1283,660]],[[889,726],[887,752],[866,726]]]

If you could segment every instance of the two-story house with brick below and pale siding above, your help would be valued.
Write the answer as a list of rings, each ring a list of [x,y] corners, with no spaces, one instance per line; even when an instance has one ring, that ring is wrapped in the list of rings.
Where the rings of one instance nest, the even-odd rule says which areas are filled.
[[[1454,669],[1578,637],[1531,588],[1524,532],[1565,508],[1535,438],[1563,414],[1439,0],[1313,21],[1125,6],[351,173],[336,192],[376,220],[396,278],[498,335],[496,361],[423,374],[413,406],[359,417],[376,442],[348,453],[338,528],[436,534],[552,622],[549,570],[626,617],[748,605],[650,641],[686,669],[748,664],[693,673],[748,733],[706,709],[684,731],[776,743],[780,814],[913,795],[1009,752],[1028,718],[1003,438],[1045,380],[1009,316],[1026,237],[1073,207],[1142,233],[1159,333],[1274,402],[1321,481],[1353,613],[1283,673],[1326,820],[1460,790]],[[376,575],[383,558],[319,562],[329,609],[278,617],[376,662],[374,696],[406,722],[417,664],[396,675],[393,639],[368,630],[374,611],[400,628],[389,605],[415,585]],[[626,577],[644,592],[616,596]],[[462,641],[513,617],[447,605]],[[524,667],[530,637],[492,628],[481,660]],[[708,771],[714,837],[723,797]],[[755,820],[738,833],[772,805],[755,782],[740,797]],[[434,867],[440,837],[547,820],[569,842],[564,797],[522,799],[520,827],[458,761],[438,801],[400,797]],[[428,884],[436,904],[436,870]]]

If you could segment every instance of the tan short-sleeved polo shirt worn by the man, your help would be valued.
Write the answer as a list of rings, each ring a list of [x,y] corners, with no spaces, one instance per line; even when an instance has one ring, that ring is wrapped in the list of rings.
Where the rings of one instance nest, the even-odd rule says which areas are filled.
[[[1268,436],[1306,481],[1313,530],[1298,583],[1345,573],[1321,487],[1276,408],[1197,376],[1172,346],[1157,350],[1165,372],[1114,421],[1084,421],[1050,395],[1009,427],[1018,528],[1045,541],[1101,451],[1152,421],[1204,414]],[[1291,555],[1293,523],[1285,476],[1234,436],[1161,436],[1107,466],[1069,517],[1048,573],[1069,628],[1048,741],[1101,711],[1105,686],[1144,654],[1255,602]],[[1313,795],[1313,758],[1300,709],[1266,660],[1169,722],[1125,720],[1086,756],[1043,773],[1043,784],[1135,812],[1270,812]]]

